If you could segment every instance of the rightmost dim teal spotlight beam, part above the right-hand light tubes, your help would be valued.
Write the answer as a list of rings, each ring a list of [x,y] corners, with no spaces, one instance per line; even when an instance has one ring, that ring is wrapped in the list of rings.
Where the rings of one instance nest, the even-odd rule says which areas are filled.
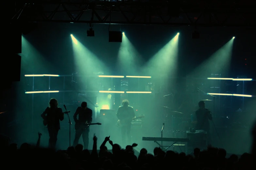
[[[188,77],[207,77],[210,74],[229,76],[233,49],[233,39],[219,48],[208,59],[196,67]]]

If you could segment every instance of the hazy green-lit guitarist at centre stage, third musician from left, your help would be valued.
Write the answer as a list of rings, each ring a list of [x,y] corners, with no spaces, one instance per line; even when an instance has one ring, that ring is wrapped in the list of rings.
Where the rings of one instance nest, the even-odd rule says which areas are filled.
[[[123,145],[125,144],[125,135],[127,134],[128,143],[131,143],[131,126],[132,120],[135,118],[135,113],[132,106],[129,106],[128,100],[122,101],[122,106],[120,106],[117,110],[117,117],[120,120],[121,126],[121,136]]]

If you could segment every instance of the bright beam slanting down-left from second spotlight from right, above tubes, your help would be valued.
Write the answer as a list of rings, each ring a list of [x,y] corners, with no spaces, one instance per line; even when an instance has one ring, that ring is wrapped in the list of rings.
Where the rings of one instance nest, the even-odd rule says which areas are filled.
[[[143,74],[152,76],[176,76],[179,35],[172,38],[144,65]],[[165,81],[165,80],[162,80]]]

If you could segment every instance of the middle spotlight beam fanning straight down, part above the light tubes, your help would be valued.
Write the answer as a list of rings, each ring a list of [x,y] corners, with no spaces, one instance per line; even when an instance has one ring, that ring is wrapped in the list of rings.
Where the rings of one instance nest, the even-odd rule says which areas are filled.
[[[122,43],[118,51],[116,70],[121,74],[134,74],[140,72],[143,59],[134,45],[123,33]]]

